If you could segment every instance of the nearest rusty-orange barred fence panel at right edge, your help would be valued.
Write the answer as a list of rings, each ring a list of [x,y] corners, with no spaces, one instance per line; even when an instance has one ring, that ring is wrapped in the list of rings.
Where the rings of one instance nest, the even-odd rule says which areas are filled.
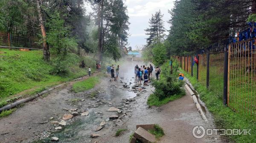
[[[229,45],[228,106],[256,115],[256,39]]]

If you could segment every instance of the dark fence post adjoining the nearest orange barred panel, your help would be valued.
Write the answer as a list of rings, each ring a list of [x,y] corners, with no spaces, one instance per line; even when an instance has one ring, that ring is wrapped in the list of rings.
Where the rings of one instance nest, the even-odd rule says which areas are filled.
[[[224,86],[223,86],[223,104],[227,105],[227,90],[228,90],[228,52],[224,54]]]

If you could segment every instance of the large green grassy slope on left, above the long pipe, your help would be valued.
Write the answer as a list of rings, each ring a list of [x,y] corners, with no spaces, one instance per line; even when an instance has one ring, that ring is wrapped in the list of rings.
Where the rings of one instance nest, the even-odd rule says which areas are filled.
[[[70,58],[77,60],[77,64],[70,67],[70,72],[65,76],[51,75],[53,66],[44,62],[42,55],[41,50],[26,52],[0,49],[0,102],[23,90],[33,88],[28,92],[32,94],[87,74],[87,70],[79,68],[82,59],[70,54]],[[92,60],[84,61],[86,65],[94,65]]]

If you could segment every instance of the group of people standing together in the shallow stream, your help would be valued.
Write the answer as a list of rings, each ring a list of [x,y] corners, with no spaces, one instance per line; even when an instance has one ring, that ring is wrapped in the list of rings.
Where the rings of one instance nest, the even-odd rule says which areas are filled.
[[[136,80],[138,80],[138,83],[141,84],[141,81],[144,80],[144,85],[148,84],[148,82],[150,81],[150,76],[152,76],[152,72],[153,72],[154,68],[151,64],[149,64],[149,67],[145,67],[145,65],[141,65],[140,67],[138,66],[138,64],[134,67],[134,74],[136,76]],[[156,77],[158,80],[159,74],[160,74],[160,68],[157,67],[156,68]]]

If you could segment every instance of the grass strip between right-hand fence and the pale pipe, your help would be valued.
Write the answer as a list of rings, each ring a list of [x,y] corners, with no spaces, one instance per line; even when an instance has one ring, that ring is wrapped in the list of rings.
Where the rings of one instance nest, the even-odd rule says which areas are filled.
[[[182,70],[183,71],[183,70]],[[185,73],[183,71],[183,73]],[[222,99],[207,90],[200,84],[195,77],[185,73],[195,90],[200,94],[200,98],[206,104],[207,108],[214,116],[215,124],[218,129],[252,129],[251,135],[233,135],[227,136],[232,142],[236,143],[255,143],[256,139],[256,121],[247,116],[234,112],[229,107],[222,104]]]

